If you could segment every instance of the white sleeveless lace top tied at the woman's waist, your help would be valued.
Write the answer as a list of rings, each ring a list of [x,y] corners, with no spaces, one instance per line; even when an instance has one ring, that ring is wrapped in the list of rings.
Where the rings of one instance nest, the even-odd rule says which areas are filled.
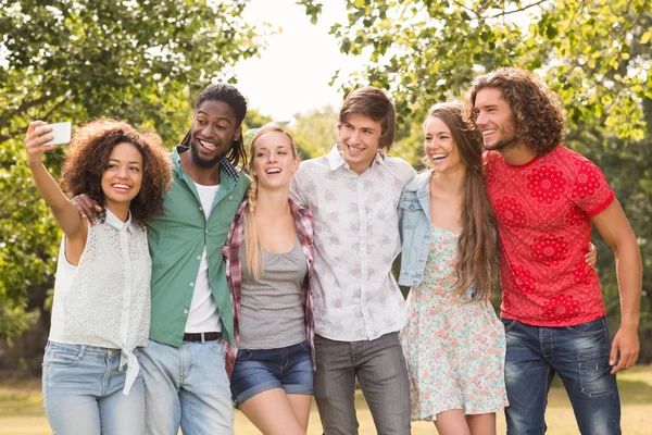
[[[61,241],[50,340],[121,349],[124,394],[140,369],[133,350],[149,337],[151,270],[147,231],[130,216],[122,222],[106,210],[104,223],[89,226],[77,266]]]

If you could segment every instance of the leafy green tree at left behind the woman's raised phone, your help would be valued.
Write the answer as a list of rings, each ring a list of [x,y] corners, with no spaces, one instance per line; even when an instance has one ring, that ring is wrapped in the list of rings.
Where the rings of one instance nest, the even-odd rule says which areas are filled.
[[[266,29],[242,20],[244,7],[0,0],[0,338],[43,309],[59,248],[60,232],[24,165],[27,123],[106,115],[155,127],[176,144],[192,113],[189,96],[233,82],[231,66],[259,52]],[[62,151],[48,156],[55,175],[61,163]]]

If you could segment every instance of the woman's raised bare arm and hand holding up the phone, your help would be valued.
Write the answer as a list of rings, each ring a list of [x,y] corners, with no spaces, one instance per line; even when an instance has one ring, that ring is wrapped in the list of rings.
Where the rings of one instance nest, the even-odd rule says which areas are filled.
[[[29,123],[24,140],[27,152],[27,165],[32,172],[34,184],[50,210],[52,210],[57,223],[66,237],[71,239],[86,238],[86,224],[83,222],[79,212],[70,199],[63,195],[59,185],[42,163],[43,153],[54,148],[54,146],[42,145],[52,138],[49,135],[51,129],[42,121]]]

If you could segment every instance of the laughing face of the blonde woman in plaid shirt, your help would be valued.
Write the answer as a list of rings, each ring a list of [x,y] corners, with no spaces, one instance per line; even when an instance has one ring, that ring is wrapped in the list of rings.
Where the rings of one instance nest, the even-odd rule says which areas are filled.
[[[299,159],[288,135],[278,130],[262,134],[253,144],[252,154],[259,190],[289,189]]]

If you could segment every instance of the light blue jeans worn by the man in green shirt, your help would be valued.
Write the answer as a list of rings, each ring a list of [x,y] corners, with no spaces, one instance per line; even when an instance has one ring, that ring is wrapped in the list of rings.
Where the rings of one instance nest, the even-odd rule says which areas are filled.
[[[233,434],[234,409],[222,341],[149,340],[141,349],[147,434]]]

